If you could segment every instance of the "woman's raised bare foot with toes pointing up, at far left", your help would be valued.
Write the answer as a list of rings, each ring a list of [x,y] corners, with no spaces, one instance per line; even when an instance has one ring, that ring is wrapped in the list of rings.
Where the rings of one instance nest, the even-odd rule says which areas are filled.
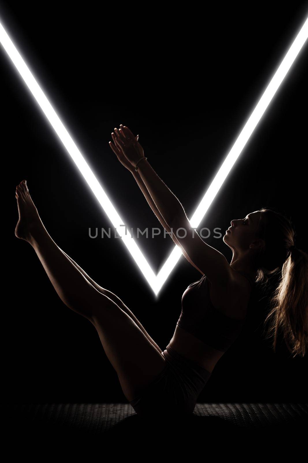
[[[19,219],[15,228],[17,238],[24,239],[30,242],[35,235],[35,232],[42,228],[42,220],[38,215],[36,206],[34,205],[26,181],[23,180],[17,185],[16,193]]]

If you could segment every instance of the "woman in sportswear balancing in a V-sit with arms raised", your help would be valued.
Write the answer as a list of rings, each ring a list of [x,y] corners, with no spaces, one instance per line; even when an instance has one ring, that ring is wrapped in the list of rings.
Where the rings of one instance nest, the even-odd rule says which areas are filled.
[[[192,414],[215,364],[241,331],[255,280],[282,264],[283,278],[272,309],[274,348],[282,328],[290,350],[303,356],[308,331],[308,256],[294,247],[295,232],[288,219],[262,209],[232,220],[223,237],[233,251],[229,264],[190,229],[181,203],[147,162],[138,136],[120,125],[112,138],[110,147],[133,174],[153,212],[168,232],[173,230],[175,244],[203,275],[183,294],[181,317],[164,351],[115,294],[94,282],[54,243],[26,181],[16,187],[15,234],[36,251],[66,306],[95,326],[135,411],[144,417]],[[180,227],[187,230],[185,238],[175,235]]]

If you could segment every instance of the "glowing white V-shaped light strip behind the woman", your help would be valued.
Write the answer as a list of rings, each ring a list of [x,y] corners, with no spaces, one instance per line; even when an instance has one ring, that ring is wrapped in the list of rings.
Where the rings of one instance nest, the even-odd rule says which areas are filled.
[[[302,46],[307,40],[307,38],[308,38],[308,18],[306,19],[304,25],[302,26],[301,30],[297,34],[293,44],[291,45],[286,56],[284,57],[284,60],[280,64],[274,76],[272,77],[272,80],[268,84],[265,92],[260,98],[260,101],[258,102],[251,116],[249,117],[248,121],[244,125],[244,128],[242,129],[240,135],[238,136],[235,144],[229,151],[228,156],[226,156],[222,166],[218,170],[214,180],[211,182],[210,187],[207,189],[203,199],[201,200],[199,206],[197,207],[195,213],[193,214],[193,217],[190,220],[190,224],[192,227],[199,226],[201,220],[205,216],[206,211],[211,205],[211,202],[213,201],[220,187],[222,186],[223,181],[226,179],[233,164],[236,162],[236,159],[241,154],[245,144],[247,143],[252,132],[254,131],[256,125],[260,121],[263,113],[265,112],[267,106],[271,102],[279,85],[281,84],[285,75],[289,71],[292,63],[294,62],[299,51],[302,49]],[[68,154],[72,157],[72,160],[77,165],[81,174],[85,178],[85,181],[88,183],[89,187],[91,188],[92,192],[96,196],[100,205],[103,207],[105,213],[108,215],[111,223],[116,228],[117,233],[121,236],[123,243],[126,245],[134,261],[137,263],[137,265],[139,266],[139,269],[145,276],[146,280],[149,282],[154,294],[157,296],[157,294],[159,293],[160,289],[163,286],[163,283],[167,280],[171,271],[174,269],[176,263],[182,256],[181,249],[178,246],[175,246],[175,248],[172,250],[171,254],[169,255],[166,262],[163,264],[163,267],[160,269],[158,274],[157,275],[154,274],[149,263],[143,256],[142,252],[139,250],[139,247],[137,246],[137,244],[131,237],[128,230],[127,230],[127,234],[125,234],[125,227],[120,226],[120,225],[124,225],[123,221],[121,220],[121,217],[116,212],[115,207],[111,204],[111,201],[109,200],[107,194],[104,192],[102,186],[97,181],[97,178],[91,171],[88,164],[85,162],[84,157],[82,156],[79,149],[73,142],[71,136],[69,135],[68,131],[66,130],[66,128],[60,121],[58,115],[55,113],[53,107],[50,105],[45,94],[42,92],[42,89],[37,84],[29,68],[24,63],[24,60],[18,53],[18,50],[12,43],[12,40],[7,35],[1,22],[0,22],[0,43],[2,44],[3,48],[6,50],[6,53],[8,54],[8,56],[11,58],[12,63],[15,65],[16,69],[18,70],[19,74],[23,78],[30,92],[36,99],[38,105],[41,107],[43,113],[45,114],[50,124],[52,125],[55,133],[58,135],[58,137],[60,138],[60,141],[65,146]]]

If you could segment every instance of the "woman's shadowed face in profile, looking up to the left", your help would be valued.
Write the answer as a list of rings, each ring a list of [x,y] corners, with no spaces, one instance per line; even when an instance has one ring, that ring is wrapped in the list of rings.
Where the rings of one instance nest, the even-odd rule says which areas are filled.
[[[244,219],[231,220],[223,242],[231,249],[248,250],[257,239],[261,211],[249,213]]]

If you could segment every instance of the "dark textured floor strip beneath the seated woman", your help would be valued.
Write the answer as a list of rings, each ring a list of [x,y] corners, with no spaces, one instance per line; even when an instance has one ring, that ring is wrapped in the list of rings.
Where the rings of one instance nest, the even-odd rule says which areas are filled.
[[[145,431],[142,421],[128,403],[102,404],[2,404],[2,423],[13,434],[35,429],[70,435],[111,436],[121,432]],[[150,422],[153,425],[152,422]],[[162,429],[168,423],[159,423]],[[191,432],[221,430],[271,431],[304,429],[308,424],[308,404],[208,404],[197,403],[193,416],[176,424]],[[157,424],[154,425],[155,427]],[[186,429],[186,430],[187,430]],[[132,434],[133,435],[133,434]]]

